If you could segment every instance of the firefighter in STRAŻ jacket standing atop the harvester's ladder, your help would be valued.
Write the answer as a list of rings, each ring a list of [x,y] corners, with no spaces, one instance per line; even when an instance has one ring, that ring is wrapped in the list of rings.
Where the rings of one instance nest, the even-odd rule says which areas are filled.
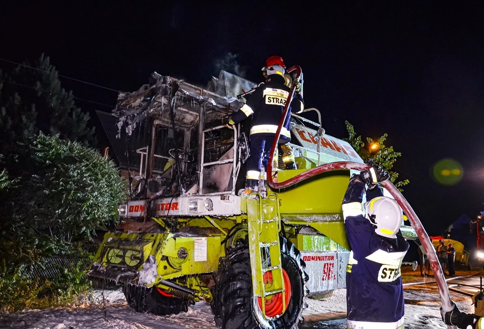
[[[261,187],[265,188],[267,179],[265,170],[270,149],[290,92],[290,88],[285,85],[284,61],[280,57],[272,62],[269,59],[266,64],[271,65],[263,69],[266,77],[265,83],[251,93],[247,102],[230,118],[227,124],[227,127],[233,128],[234,124],[253,116],[249,134],[250,156],[247,159],[246,193],[259,191],[260,181]],[[290,105],[294,108],[302,106],[302,97],[295,94]],[[262,169],[264,169],[264,174],[261,174]]]

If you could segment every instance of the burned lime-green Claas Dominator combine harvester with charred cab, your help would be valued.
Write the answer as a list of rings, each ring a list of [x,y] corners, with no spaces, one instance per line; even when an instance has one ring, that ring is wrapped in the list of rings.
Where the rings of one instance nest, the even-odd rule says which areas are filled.
[[[266,198],[238,195],[249,123],[225,123],[241,105],[236,96],[255,86],[223,71],[208,90],[154,73],[137,92],[120,93],[119,133],[144,125],[148,138],[136,150],[121,222],[89,275],[123,284],[136,311],[179,313],[204,299],[221,328],[289,328],[302,320],[305,296],[345,287],[349,170],[268,189]],[[292,115],[298,169],[276,171],[278,181],[323,163],[363,163],[348,143],[323,135],[317,109],[305,111],[319,122]]]

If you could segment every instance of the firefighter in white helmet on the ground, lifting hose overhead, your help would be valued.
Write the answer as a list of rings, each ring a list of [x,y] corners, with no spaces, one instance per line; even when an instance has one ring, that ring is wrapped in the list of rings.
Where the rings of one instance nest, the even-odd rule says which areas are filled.
[[[343,217],[351,253],[346,268],[347,327],[404,327],[400,266],[409,243],[400,232],[402,209],[383,196],[378,182],[389,175],[371,162],[354,174],[343,199]],[[366,189],[366,215],[362,200]]]

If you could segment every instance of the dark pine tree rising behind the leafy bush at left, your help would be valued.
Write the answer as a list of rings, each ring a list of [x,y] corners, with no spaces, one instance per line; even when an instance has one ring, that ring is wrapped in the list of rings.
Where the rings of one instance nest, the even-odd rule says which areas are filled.
[[[27,142],[39,131],[93,146],[89,114],[75,106],[72,91],[61,87],[49,58],[42,54],[34,64],[24,65],[11,74],[0,71],[0,153]]]

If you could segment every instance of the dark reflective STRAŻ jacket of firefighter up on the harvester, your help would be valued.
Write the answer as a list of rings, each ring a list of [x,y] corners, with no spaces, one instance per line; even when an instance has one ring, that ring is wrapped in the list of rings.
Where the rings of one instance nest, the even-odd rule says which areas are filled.
[[[250,95],[239,111],[234,113],[232,120],[234,123],[239,123],[247,117],[253,115],[252,127],[250,128],[250,135],[258,134],[260,136],[273,136],[277,131],[277,126],[281,120],[284,111],[284,105],[289,97],[290,89],[284,85],[284,78],[280,75],[271,75],[269,81],[261,84]],[[297,94],[296,94],[297,95]],[[302,97],[295,96],[291,101],[291,109],[294,113],[300,113],[303,109]],[[290,117],[288,111],[288,117]],[[281,129],[281,138],[291,139],[290,131],[287,129],[287,124]]]

